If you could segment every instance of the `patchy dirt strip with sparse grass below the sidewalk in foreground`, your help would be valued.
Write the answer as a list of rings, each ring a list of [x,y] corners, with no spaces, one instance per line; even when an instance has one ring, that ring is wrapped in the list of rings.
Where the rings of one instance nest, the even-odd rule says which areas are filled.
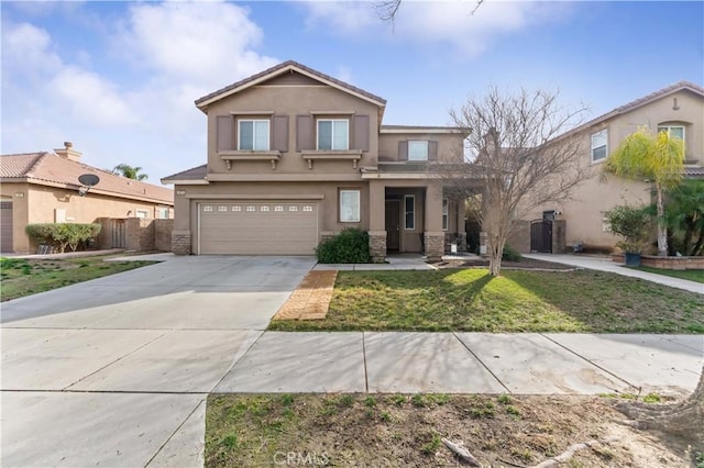
[[[619,424],[624,417],[597,397],[210,395],[206,466],[460,466],[443,437],[463,442],[483,467],[534,466],[608,437],[616,441],[559,466],[689,466],[691,454]]]

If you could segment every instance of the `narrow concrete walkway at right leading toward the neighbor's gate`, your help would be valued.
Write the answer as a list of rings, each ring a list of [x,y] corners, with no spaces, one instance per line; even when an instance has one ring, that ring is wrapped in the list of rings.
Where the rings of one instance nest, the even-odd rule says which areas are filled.
[[[673,278],[664,275],[640,271],[634,268],[626,268],[623,265],[615,264],[610,257],[596,257],[585,255],[570,254],[524,254],[524,257],[537,260],[554,261],[557,264],[572,265],[579,268],[587,268],[591,270],[608,271],[631,278],[640,278],[646,281],[657,282],[659,285],[669,286],[671,288],[684,289],[686,291],[698,292],[704,294],[704,285],[686,279]]]

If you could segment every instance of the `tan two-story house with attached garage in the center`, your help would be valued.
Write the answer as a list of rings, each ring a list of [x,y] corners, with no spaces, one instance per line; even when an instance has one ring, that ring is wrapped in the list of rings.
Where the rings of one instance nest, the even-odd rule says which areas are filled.
[[[196,105],[207,164],[162,179],[175,185],[176,254],[312,255],[345,227],[369,231],[376,261],[463,247],[464,203],[428,171],[463,160],[460,130],[382,125],[384,99],[296,62]]]

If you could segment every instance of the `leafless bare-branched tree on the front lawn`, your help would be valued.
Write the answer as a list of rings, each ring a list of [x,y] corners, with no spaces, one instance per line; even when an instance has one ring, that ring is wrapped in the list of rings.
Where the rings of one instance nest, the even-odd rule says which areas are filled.
[[[496,88],[450,112],[469,134],[473,156],[440,177],[450,196],[475,204],[493,276],[501,272],[504,246],[517,222],[547,203],[569,199],[572,189],[592,176],[582,160],[583,136],[569,132],[584,112],[560,107],[558,92],[524,89],[503,94]]]

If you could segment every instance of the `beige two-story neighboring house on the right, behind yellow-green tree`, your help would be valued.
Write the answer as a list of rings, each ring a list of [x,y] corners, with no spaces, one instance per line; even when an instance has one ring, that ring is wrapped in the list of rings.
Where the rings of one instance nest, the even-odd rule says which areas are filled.
[[[618,204],[650,204],[652,183],[615,176],[601,176],[601,166],[622,141],[639,126],[652,132],[667,131],[682,138],[685,147],[685,177],[704,177],[704,88],[681,81],[629,102],[574,129],[570,134],[583,135],[583,165],[594,170],[594,176],[579,186],[572,200],[541,208],[525,221],[554,216],[560,221],[562,237],[552,243],[540,242],[541,230],[535,223],[512,237],[512,245],[520,252],[550,252],[550,246],[571,247],[581,243],[586,247],[612,249],[619,237],[612,234],[604,221],[604,213]],[[531,233],[532,231],[532,233]],[[541,247],[542,245],[542,247]],[[547,246],[547,248],[544,248]],[[558,253],[557,249],[554,253]]]

